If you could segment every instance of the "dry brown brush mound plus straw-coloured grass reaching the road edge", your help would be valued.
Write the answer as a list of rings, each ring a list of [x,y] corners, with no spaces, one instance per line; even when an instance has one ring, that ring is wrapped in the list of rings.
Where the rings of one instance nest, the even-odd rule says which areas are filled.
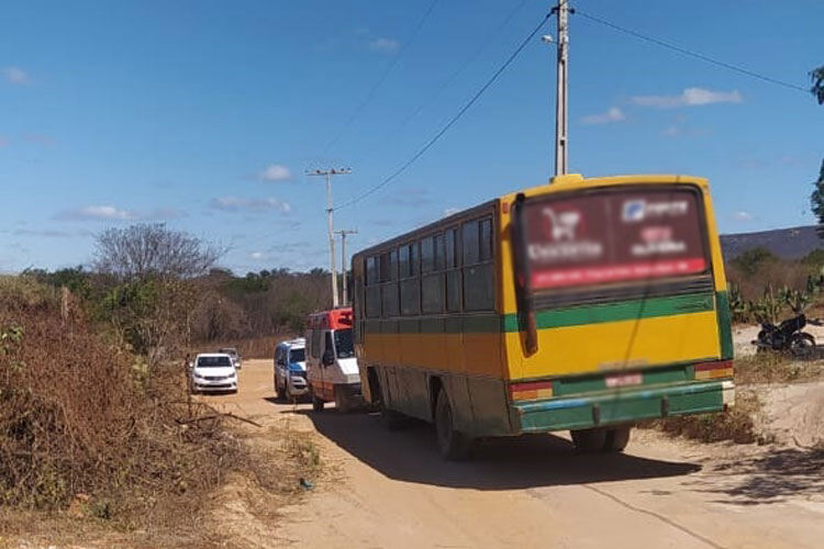
[[[300,437],[280,434],[260,456],[227,428],[233,419],[190,422],[214,411],[189,404],[185,380],[182,361],[149,371],[102,340],[79,307],[64,316],[54,292],[0,279],[0,536],[32,528],[20,517],[65,526],[71,515],[83,531],[183,546],[204,540],[197,518],[230,477],[289,494],[297,481],[271,479],[320,468]]]

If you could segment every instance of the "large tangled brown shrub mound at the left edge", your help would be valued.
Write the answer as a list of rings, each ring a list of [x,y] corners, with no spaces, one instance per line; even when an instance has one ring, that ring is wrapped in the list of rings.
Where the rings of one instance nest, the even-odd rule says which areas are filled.
[[[133,356],[79,312],[64,317],[49,289],[7,279],[0,293],[0,504],[59,508],[90,494],[105,516],[144,520],[134,509],[216,485],[237,461],[220,428],[178,425],[181,366],[136,378]]]

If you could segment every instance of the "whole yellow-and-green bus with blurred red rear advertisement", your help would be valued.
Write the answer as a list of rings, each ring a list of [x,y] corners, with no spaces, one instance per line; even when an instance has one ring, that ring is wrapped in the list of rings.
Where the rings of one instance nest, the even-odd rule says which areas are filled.
[[[569,429],[621,451],[634,422],[734,401],[731,315],[708,181],[554,178],[353,257],[355,351],[390,428],[441,452]]]

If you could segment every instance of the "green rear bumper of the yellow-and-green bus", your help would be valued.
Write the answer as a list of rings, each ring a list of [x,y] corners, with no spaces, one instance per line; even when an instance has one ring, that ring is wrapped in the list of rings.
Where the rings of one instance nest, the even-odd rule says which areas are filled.
[[[625,389],[587,396],[511,403],[520,433],[586,429],[672,415],[721,412],[735,401],[732,380]]]

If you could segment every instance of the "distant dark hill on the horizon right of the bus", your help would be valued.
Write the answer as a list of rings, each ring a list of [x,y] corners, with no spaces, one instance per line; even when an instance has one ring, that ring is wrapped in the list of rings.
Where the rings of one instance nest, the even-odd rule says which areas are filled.
[[[730,260],[751,248],[764,247],[778,257],[799,259],[816,248],[824,249],[824,239],[819,238],[815,225],[777,228],[759,233],[721,235],[724,258]]]

